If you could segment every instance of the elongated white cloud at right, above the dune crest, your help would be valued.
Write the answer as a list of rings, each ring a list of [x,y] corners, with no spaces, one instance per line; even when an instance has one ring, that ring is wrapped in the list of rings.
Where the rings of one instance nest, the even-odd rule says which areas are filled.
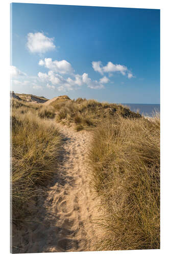
[[[133,77],[132,73],[128,71],[126,66],[113,64],[111,61],[109,61],[106,66],[102,66],[101,61],[92,61],[92,68],[94,71],[101,73],[101,75],[104,73],[109,73],[109,75],[111,75],[113,72],[120,72],[124,76],[128,74],[128,78]]]

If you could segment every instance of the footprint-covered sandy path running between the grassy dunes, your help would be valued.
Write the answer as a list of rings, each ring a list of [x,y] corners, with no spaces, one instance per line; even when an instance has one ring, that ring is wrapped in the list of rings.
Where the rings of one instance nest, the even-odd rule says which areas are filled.
[[[93,222],[100,201],[90,188],[86,164],[90,133],[56,125],[64,140],[61,165],[47,187],[47,197],[38,200],[40,222],[30,225],[27,235],[23,230],[15,236],[22,247],[17,252],[90,251],[99,239]]]

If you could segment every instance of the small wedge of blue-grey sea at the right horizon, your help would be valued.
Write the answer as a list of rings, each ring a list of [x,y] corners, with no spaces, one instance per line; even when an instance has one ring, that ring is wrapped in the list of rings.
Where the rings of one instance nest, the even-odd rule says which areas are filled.
[[[160,112],[160,104],[133,104],[133,103],[122,103],[123,105],[128,106],[131,111],[137,112],[139,111],[140,114],[144,116],[153,116],[153,112],[156,110]]]

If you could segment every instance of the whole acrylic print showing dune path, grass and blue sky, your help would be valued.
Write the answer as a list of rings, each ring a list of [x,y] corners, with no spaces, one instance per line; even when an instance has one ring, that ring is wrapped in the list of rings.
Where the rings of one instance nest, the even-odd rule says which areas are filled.
[[[160,10],[11,4],[11,251],[159,249]]]

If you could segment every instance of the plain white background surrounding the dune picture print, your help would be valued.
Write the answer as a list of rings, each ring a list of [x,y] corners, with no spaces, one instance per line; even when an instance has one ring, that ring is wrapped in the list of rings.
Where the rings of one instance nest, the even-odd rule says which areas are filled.
[[[10,122],[9,122],[9,91],[10,91],[10,3],[9,0],[0,2],[0,120],[1,120],[1,163],[0,163],[0,207],[1,207],[1,255],[10,254]],[[170,5],[166,0],[39,0],[39,1],[14,1],[14,3],[36,3],[36,4],[62,4],[62,5],[84,5],[84,6],[107,6],[107,7],[129,7],[161,9],[161,249],[160,250],[133,250],[133,251],[102,251],[102,252],[64,252],[55,255],[169,255],[169,187],[170,187],[170,100],[169,100],[169,77],[170,77]],[[23,255],[23,254],[20,254]],[[25,254],[26,255],[26,254]],[[34,253],[27,255],[40,255]],[[43,254],[44,255],[44,254]],[[52,255],[52,253],[45,253]]]

